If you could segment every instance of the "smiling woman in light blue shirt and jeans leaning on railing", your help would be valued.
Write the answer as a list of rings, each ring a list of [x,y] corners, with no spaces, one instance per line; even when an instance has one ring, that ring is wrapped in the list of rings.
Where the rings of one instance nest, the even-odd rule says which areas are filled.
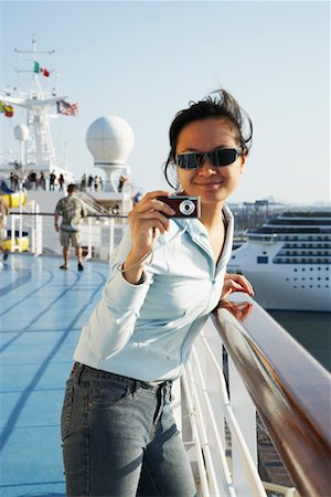
[[[245,126],[248,125],[246,134]],[[253,288],[225,275],[252,124],[225,91],[190,105],[170,128],[166,178],[201,199],[201,216],[147,193],[111,260],[67,382],[62,436],[68,496],[196,495],[171,412],[171,385],[221,297]]]

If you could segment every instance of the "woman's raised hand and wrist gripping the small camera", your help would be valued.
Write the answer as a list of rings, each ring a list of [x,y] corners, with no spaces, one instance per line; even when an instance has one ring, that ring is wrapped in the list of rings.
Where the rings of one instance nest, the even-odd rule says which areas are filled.
[[[132,245],[124,263],[122,273],[127,282],[134,285],[141,282],[143,264],[152,252],[156,237],[169,230],[167,215],[173,215],[174,211],[157,199],[169,194],[164,190],[149,192],[129,212]]]

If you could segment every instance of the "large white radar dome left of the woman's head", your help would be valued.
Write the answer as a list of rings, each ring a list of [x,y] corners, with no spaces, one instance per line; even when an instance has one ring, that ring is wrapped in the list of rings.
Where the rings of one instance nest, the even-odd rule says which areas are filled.
[[[132,151],[135,136],[129,124],[117,116],[99,117],[86,133],[86,145],[95,166],[125,165]]]

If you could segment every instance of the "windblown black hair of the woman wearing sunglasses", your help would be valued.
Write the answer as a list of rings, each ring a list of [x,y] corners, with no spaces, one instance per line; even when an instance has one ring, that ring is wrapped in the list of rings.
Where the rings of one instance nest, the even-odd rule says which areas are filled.
[[[248,114],[239,107],[237,101],[225,89],[221,88],[199,102],[189,102],[189,107],[177,113],[170,129],[170,152],[163,166],[163,172],[167,182],[172,187],[169,180],[169,166],[175,163],[175,150],[181,130],[194,120],[204,120],[209,118],[224,119],[235,131],[235,138],[243,148],[244,156],[248,155],[253,140],[253,124]]]

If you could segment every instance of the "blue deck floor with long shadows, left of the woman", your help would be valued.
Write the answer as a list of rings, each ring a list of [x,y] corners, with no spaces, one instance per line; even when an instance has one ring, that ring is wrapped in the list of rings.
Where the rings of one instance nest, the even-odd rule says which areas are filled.
[[[60,417],[82,325],[108,277],[14,254],[0,268],[1,497],[65,496]]]

